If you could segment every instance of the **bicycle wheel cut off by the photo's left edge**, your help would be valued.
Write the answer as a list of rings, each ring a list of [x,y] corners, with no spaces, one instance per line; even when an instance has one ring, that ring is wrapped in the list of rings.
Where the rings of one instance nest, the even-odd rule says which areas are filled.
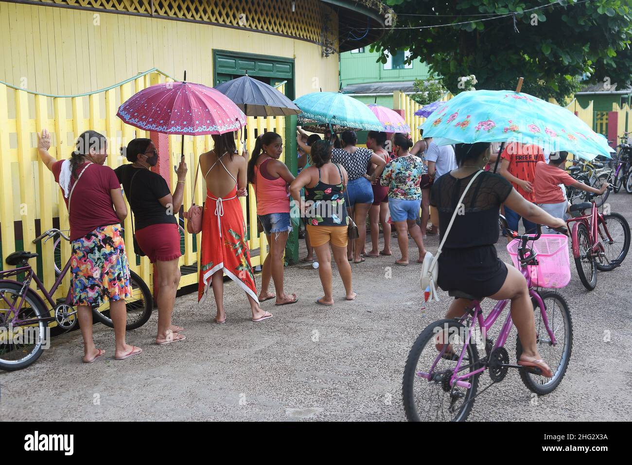
[[[0,369],[15,371],[35,362],[46,345],[47,321],[32,325],[13,326],[16,318],[13,307],[21,299],[20,283],[0,283]],[[32,289],[28,289],[18,314],[20,319],[45,318],[48,311]],[[11,328],[11,332],[9,332]]]

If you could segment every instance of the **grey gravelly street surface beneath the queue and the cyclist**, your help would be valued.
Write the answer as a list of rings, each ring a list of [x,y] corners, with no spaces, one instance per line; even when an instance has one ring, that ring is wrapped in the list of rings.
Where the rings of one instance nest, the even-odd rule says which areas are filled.
[[[632,195],[611,194],[609,202],[612,211],[632,222]],[[393,239],[395,255],[396,244]],[[427,245],[436,250],[438,239],[429,237]],[[504,241],[498,248],[508,260]],[[174,323],[185,326],[186,341],[152,345],[154,313],[147,325],[128,333],[128,342],[144,352],[126,361],[112,358],[114,333],[106,326],[95,325],[97,347],[108,353],[94,364],[81,363],[79,332],[54,338],[32,366],[0,373],[0,414],[5,421],[404,420],[401,380],[408,351],[428,323],[442,318],[450,299],[444,294],[423,309],[420,265],[392,266],[394,259],[367,258],[352,265],[355,302],[344,301],[334,270],[333,307],[313,303],[322,295],[316,270],[288,268],[286,289],[297,292],[300,301],[283,307],[265,302],[274,318],[262,323],[250,321],[244,294],[233,283],[224,291],[225,325],[213,322],[211,304],[199,308],[196,295],[179,297]],[[470,420],[632,416],[632,258],[599,273],[592,292],[581,285],[572,258],[571,270],[571,283],[561,294],[573,316],[574,346],[561,385],[534,399],[510,370],[477,398]],[[391,278],[385,277],[389,272]],[[507,343],[511,360],[515,335],[514,328]],[[487,384],[485,374],[480,387]]]

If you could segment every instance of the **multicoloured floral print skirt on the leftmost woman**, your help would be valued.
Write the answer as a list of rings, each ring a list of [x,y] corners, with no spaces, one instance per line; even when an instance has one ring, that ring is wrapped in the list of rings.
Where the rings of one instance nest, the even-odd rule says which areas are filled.
[[[121,225],[99,226],[73,240],[70,257],[73,304],[100,306],[131,297],[130,266]]]

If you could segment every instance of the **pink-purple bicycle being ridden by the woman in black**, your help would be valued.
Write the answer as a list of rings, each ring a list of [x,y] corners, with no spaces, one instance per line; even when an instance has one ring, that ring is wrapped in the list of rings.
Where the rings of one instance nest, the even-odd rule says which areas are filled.
[[[501,226],[509,230],[502,215]],[[471,306],[461,318],[440,319],[428,325],[408,354],[403,403],[409,421],[465,421],[476,397],[502,381],[509,368],[518,369],[525,386],[538,395],[549,394],[562,381],[573,350],[573,323],[564,297],[554,291],[540,292],[532,282],[530,268],[537,266],[538,259],[537,252],[528,248],[527,242],[540,239],[542,230],[538,226],[535,236],[518,235],[511,230],[509,233],[520,240],[518,261],[535,311],[538,352],[549,364],[553,377],[540,376],[539,368],[509,363],[504,345],[513,326],[511,313],[507,314],[497,340],[494,342],[489,337],[490,328],[509,300],[499,301],[487,318],[483,318],[480,297],[453,290],[449,295],[469,299]],[[485,355],[481,357],[477,346],[483,344]],[[446,351],[448,345],[453,347],[453,352]],[[520,360],[521,354],[520,339],[516,338],[516,360]],[[477,394],[480,375],[486,370],[491,383]]]

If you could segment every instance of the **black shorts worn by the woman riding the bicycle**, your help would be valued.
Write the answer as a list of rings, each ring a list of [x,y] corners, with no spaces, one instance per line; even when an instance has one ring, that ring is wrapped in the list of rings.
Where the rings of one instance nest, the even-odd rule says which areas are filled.
[[[444,249],[439,256],[437,284],[443,290],[461,290],[476,297],[489,297],[501,290],[507,266],[495,245],[468,249]]]

